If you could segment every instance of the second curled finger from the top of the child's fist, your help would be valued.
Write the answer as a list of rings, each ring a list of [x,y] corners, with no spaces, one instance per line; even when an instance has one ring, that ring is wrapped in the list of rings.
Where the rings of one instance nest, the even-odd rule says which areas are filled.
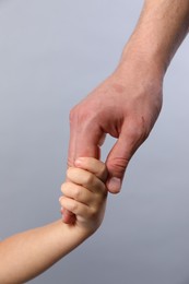
[[[94,174],[75,167],[70,167],[67,170],[67,177],[70,181],[83,186],[93,192],[105,192],[105,184],[98,179]]]

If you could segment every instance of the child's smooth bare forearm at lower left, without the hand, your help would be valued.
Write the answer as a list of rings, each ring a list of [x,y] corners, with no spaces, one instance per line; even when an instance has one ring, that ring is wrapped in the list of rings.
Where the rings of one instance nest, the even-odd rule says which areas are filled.
[[[28,281],[79,246],[87,236],[58,221],[0,242],[0,284]]]

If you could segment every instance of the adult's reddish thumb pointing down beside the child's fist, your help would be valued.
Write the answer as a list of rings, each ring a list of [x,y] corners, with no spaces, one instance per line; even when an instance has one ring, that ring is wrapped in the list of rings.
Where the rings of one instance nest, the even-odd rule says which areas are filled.
[[[106,166],[109,173],[106,186],[109,192],[118,193],[129,161],[139,146],[139,139],[129,131],[120,133],[119,139],[110,150]]]

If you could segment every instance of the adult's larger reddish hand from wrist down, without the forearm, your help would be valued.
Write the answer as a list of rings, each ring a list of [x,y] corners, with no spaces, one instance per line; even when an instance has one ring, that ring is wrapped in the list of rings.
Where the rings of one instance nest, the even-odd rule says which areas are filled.
[[[106,165],[107,188],[119,192],[130,158],[147,138],[162,106],[162,80],[147,66],[125,62],[70,113],[68,165],[99,157],[105,134],[117,138]]]

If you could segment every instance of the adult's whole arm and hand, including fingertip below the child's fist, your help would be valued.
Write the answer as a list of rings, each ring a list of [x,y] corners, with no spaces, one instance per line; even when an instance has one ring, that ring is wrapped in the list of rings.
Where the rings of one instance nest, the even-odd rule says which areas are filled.
[[[106,159],[111,193],[160,115],[165,72],[188,26],[189,0],[145,0],[117,69],[70,113],[69,166],[78,156],[98,157],[107,133],[117,139]]]

